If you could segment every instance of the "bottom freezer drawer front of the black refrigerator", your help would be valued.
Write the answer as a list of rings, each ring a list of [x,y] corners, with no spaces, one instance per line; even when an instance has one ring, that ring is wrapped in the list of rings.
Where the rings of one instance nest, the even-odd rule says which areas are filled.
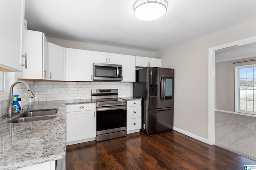
[[[148,134],[173,129],[173,108],[148,110]]]

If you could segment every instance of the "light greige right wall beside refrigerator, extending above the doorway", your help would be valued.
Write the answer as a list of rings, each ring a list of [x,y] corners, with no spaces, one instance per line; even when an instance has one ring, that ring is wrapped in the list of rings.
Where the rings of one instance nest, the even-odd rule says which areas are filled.
[[[255,30],[252,20],[156,53],[163,67],[175,69],[175,128],[208,139],[208,49],[256,36]]]

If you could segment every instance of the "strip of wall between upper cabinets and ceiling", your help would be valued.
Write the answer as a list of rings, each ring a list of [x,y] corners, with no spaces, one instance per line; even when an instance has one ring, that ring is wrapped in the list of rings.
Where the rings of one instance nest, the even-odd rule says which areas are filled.
[[[155,58],[155,53],[148,52],[148,51],[139,51],[139,50],[133,50],[133,49],[120,48],[120,47],[106,46],[106,45],[82,43],[77,41],[68,41],[68,40],[55,39],[50,37],[47,37],[47,41],[54,43],[56,45],[60,45],[62,47],[67,47],[67,48]]]

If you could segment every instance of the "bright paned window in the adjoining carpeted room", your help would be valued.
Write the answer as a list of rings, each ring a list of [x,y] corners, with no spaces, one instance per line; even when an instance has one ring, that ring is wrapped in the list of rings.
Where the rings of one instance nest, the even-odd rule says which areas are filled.
[[[256,114],[256,64],[235,67],[236,111]]]

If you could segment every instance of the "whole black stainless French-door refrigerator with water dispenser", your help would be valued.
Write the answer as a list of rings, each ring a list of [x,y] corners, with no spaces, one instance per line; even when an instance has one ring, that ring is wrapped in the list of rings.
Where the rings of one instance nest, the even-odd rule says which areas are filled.
[[[142,98],[142,129],[146,134],[173,129],[174,69],[136,70],[133,96]]]

